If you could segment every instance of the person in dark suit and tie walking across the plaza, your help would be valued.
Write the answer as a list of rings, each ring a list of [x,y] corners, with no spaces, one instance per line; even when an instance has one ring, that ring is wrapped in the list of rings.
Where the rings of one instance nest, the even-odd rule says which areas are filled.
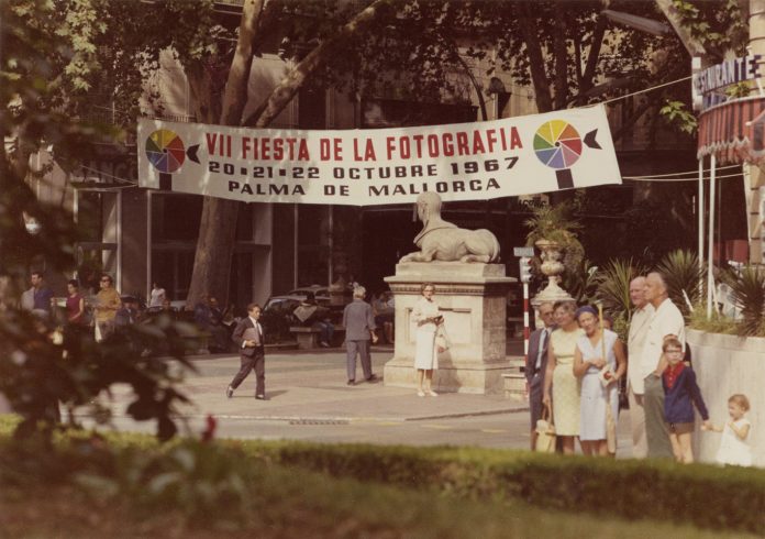
[[[250,304],[247,317],[239,322],[231,339],[240,349],[242,366],[225,389],[225,396],[231,398],[250,371],[255,371],[255,398],[266,399],[266,355],[263,348],[263,327],[257,321],[260,318],[260,306]]]

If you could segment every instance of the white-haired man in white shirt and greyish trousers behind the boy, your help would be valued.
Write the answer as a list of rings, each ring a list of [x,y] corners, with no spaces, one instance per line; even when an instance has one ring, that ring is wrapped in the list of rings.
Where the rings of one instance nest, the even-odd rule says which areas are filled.
[[[673,458],[669,432],[664,421],[664,388],[662,373],[667,366],[662,352],[664,339],[676,337],[685,348],[685,320],[680,310],[672,302],[667,286],[659,273],[650,273],[645,278],[645,300],[655,311],[648,320],[640,366],[643,375],[643,410],[645,411],[645,437],[648,457]]]

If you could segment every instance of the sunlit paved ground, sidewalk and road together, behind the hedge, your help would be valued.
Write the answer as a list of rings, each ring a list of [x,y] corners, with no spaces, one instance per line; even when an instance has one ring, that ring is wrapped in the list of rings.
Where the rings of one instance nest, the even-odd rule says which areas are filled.
[[[391,358],[392,348],[373,348],[373,370],[378,376]],[[189,375],[182,387],[195,404],[181,411],[191,433],[200,432],[207,416],[213,415],[219,438],[529,447],[525,402],[503,395],[456,393],[421,398],[413,388],[388,387],[382,381],[348,386],[341,349],[267,352],[267,400],[254,398],[254,374],[233,398],[225,397],[225,387],[239,369],[237,356],[199,355],[192,363],[198,372]],[[437,374],[434,387],[437,392]],[[124,415],[129,399],[126,388],[114,392],[114,425],[120,430],[152,432],[153,424],[135,422]],[[628,414],[624,411],[620,421],[620,458],[631,454]]]

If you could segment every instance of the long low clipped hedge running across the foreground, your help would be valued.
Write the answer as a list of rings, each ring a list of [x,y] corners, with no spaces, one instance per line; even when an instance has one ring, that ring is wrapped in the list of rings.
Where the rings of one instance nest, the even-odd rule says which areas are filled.
[[[2,424],[0,421],[0,441],[2,430],[10,427]],[[545,509],[687,522],[765,536],[765,470],[760,469],[450,447],[257,440],[224,440],[204,446],[179,439],[158,446],[148,436],[130,433],[109,436],[108,441],[93,444],[88,436],[80,433],[60,439],[56,458],[42,462],[30,461],[22,454],[14,458],[13,453],[20,448],[9,444],[5,438],[5,442],[0,443],[0,452],[4,453],[2,460],[14,462],[14,466],[5,468],[2,475],[11,481],[16,474],[19,479],[32,474],[54,480],[89,469],[114,476],[125,473],[121,469],[126,462],[133,462],[135,468],[135,462],[143,461],[145,470],[164,468],[157,460],[160,454],[180,448],[180,455],[188,457],[189,451],[198,454],[196,462],[200,465],[208,459],[241,461],[251,457],[253,461],[297,466],[336,477],[437,491],[463,498],[522,499]],[[21,453],[30,454],[26,450]],[[155,457],[149,458],[151,454]],[[153,462],[146,462],[146,458]],[[31,469],[26,469],[27,463]],[[202,465],[201,470],[207,468]],[[224,473],[222,470],[211,473],[213,483],[219,484],[220,474],[231,477],[236,471],[226,468]],[[225,487],[224,483],[220,485]]]

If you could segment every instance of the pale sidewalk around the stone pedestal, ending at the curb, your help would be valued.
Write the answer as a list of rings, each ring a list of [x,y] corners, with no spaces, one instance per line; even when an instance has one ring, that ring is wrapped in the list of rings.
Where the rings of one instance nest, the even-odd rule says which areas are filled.
[[[392,358],[392,348],[373,346],[373,371],[382,377],[382,366]],[[233,398],[225,388],[239,370],[239,356],[193,356],[197,374],[187,377],[184,391],[195,406],[184,409],[189,418],[212,414],[228,419],[289,421],[415,421],[436,418],[480,416],[528,410],[526,403],[503,395],[442,393],[418,397],[414,388],[387,387],[384,381],[346,385],[345,352],[341,349],[266,352],[267,400],[254,398],[255,375],[251,374]],[[361,364],[356,378],[363,380]],[[434,389],[439,392],[437,373]],[[129,395],[117,393],[115,414]]]

